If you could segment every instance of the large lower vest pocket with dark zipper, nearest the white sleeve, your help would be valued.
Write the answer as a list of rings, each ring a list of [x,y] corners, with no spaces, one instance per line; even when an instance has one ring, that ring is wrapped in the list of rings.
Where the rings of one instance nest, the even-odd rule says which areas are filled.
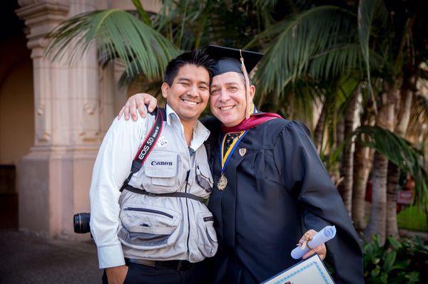
[[[119,240],[130,248],[153,250],[171,246],[178,238],[181,214],[171,209],[127,204],[121,210]]]

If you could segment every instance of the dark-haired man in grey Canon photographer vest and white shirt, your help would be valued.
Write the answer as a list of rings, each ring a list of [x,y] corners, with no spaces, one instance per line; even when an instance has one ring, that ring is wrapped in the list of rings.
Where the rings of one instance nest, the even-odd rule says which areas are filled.
[[[213,215],[202,202],[213,187],[203,145],[210,132],[198,122],[211,65],[199,51],[170,61],[165,110],[115,120],[103,139],[90,191],[103,283],[191,283],[193,263],[217,251]]]

